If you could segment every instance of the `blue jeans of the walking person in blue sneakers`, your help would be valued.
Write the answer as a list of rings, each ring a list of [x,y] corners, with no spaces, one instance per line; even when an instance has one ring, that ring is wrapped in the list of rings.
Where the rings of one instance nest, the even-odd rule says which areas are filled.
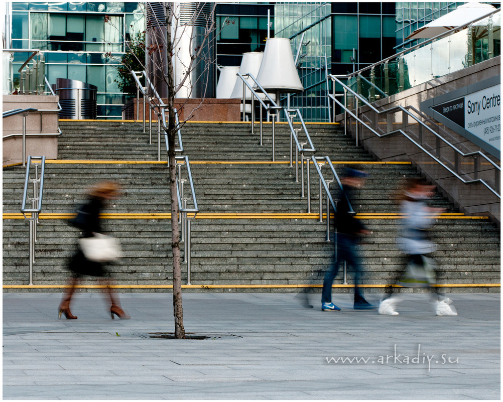
[[[358,286],[362,281],[362,265],[358,255],[358,238],[346,234],[337,234],[337,258],[333,259],[333,264],[325,274],[323,280],[323,291],[321,292],[321,302],[330,303],[332,301],[333,279],[339,273],[340,263],[346,261],[355,270],[355,301],[363,299],[363,292]]]

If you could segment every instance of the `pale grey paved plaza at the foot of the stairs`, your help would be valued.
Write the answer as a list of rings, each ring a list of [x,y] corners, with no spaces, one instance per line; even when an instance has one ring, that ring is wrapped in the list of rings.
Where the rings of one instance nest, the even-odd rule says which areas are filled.
[[[437,317],[426,294],[404,294],[400,315],[304,308],[293,294],[186,293],[187,333],[174,331],[171,293],[121,294],[130,320],[103,295],[4,293],[4,399],[498,399],[500,295],[452,294]],[[378,294],[369,294],[376,302]],[[344,359],[344,363],[343,363]]]

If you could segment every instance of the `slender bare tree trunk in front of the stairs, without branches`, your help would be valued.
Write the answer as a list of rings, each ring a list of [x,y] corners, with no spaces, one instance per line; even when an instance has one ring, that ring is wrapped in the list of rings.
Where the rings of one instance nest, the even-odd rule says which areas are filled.
[[[171,21],[171,18],[170,18]],[[170,169],[171,194],[171,248],[173,252],[173,315],[175,316],[175,338],[185,339],[184,316],[182,309],[182,267],[180,262],[180,233],[178,229],[178,215],[180,205],[177,197],[177,164],[175,159],[175,136],[177,134],[175,120],[175,79],[173,73],[173,44],[171,28],[167,26],[167,101],[169,108],[169,122],[167,130],[168,147],[167,158]]]

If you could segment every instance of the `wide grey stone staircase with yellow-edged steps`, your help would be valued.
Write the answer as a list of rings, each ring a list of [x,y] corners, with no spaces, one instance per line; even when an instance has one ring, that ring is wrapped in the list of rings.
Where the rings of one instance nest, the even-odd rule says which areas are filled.
[[[66,224],[68,213],[85,199],[87,186],[113,179],[121,184],[123,196],[105,211],[111,214],[104,220],[105,229],[121,240],[125,252],[110,266],[113,277],[134,291],[158,291],[170,285],[167,167],[155,162],[157,148],[147,144],[148,133],[142,132],[141,125],[127,122],[60,122],[60,127],[57,163],[46,164],[34,284],[64,283],[67,259],[78,236]],[[295,170],[289,167],[289,130],[284,124],[276,128],[273,164],[270,125],[264,126],[262,147],[258,133],[249,134],[249,124],[184,126],[185,154],[191,160],[201,210],[192,221],[192,284],[229,286],[214,291],[298,291],[291,286],[321,284],[333,245],[325,241],[326,221],[318,220],[318,178],[311,169],[311,214],[307,214],[300,182],[295,182]],[[393,282],[403,264],[395,244],[400,221],[392,215],[397,212],[393,194],[403,179],[416,176],[415,170],[407,164],[376,164],[337,126],[310,124],[308,128],[317,154],[330,156],[336,170],[344,163],[358,162],[370,173],[354,205],[357,212],[367,214],[363,219],[373,232],[362,246],[366,280],[371,285]],[[6,291],[28,283],[28,225],[19,215],[24,174],[21,167],[4,170],[4,287],[18,286]],[[447,200],[437,196],[435,201],[456,212]],[[433,233],[439,245],[439,282],[499,283],[499,231],[487,219],[459,215],[442,216]],[[182,271],[186,279],[185,266]],[[350,271],[349,283],[351,277]],[[494,287],[446,291],[459,289],[499,291]]]

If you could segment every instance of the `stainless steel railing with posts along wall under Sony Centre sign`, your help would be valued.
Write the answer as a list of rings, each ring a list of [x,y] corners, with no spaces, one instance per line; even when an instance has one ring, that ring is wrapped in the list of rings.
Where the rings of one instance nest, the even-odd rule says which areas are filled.
[[[358,130],[358,124],[359,123],[362,124],[367,130],[369,130],[370,132],[372,132],[373,134],[377,135],[380,138],[391,136],[391,135],[396,135],[396,134],[401,134],[402,136],[404,136],[405,138],[407,138],[408,140],[410,140],[415,146],[417,146],[423,152],[425,152],[428,156],[430,156],[438,165],[440,165],[443,168],[445,168],[448,172],[450,172],[454,177],[456,177],[457,179],[459,179],[463,183],[465,183],[465,184],[481,183],[485,187],[487,187],[493,194],[495,194],[498,198],[501,198],[501,196],[497,192],[499,190],[498,189],[498,182],[499,182],[498,177],[499,177],[501,169],[494,162],[492,162],[492,160],[489,159],[484,153],[482,153],[480,151],[464,153],[460,149],[456,148],[449,141],[447,141],[440,134],[438,134],[437,132],[435,132],[434,130],[432,130],[420,118],[417,118],[416,116],[414,116],[409,111],[409,109],[411,109],[411,108],[408,107],[408,106],[407,107],[402,107],[402,106],[398,105],[398,106],[393,106],[393,107],[391,107],[389,109],[384,109],[384,110],[378,110],[378,109],[376,109],[363,96],[359,95],[357,92],[353,91],[350,87],[348,87],[343,82],[341,82],[340,79],[339,79],[340,77],[341,76],[330,75],[330,78],[332,79],[332,81],[334,83],[338,83],[344,89],[344,95],[343,95],[344,96],[344,104],[342,102],[340,102],[337,99],[337,97],[334,96],[333,94],[329,94],[328,97],[333,102],[335,102],[339,106],[341,106],[341,108],[345,112],[345,116],[347,114],[349,114],[351,117],[353,117],[355,119],[355,121],[356,121],[355,135],[356,135],[356,143],[357,143],[357,145],[358,145],[358,141],[359,141],[359,130]],[[335,87],[335,86],[333,86],[333,87]],[[348,92],[353,97],[355,97],[355,99],[356,99],[354,113],[347,106]],[[341,96],[341,95],[342,94],[339,94],[339,96]],[[367,122],[365,122],[364,120],[362,120],[362,118],[360,118],[360,113],[358,111],[358,104],[360,103],[359,101],[363,105],[365,105],[366,107],[370,108],[370,110],[372,112],[374,112],[376,116],[385,115],[386,122],[387,122],[387,130],[386,130],[386,132],[383,132],[383,133],[378,132],[376,129],[373,128],[373,126],[375,124],[368,124]],[[392,127],[392,117],[393,117],[393,114],[395,114],[395,113],[401,113],[401,115],[402,115],[401,116],[402,127],[399,128],[399,129],[393,129],[393,127]],[[409,135],[409,133],[406,132],[406,130],[407,130],[407,122],[408,122],[409,118],[412,119],[412,124],[418,127],[418,141],[416,141],[414,138],[411,137],[411,135]],[[345,119],[346,119],[346,117],[345,117]],[[344,124],[345,132],[347,130],[346,127],[347,127],[347,124],[346,124],[346,120],[345,120],[345,124]],[[436,141],[435,153],[432,153],[431,150],[427,149],[427,147],[423,143],[423,135],[424,135],[425,132],[426,133],[430,133],[431,135],[433,135],[435,137],[435,141]],[[445,145],[447,145],[448,149],[451,149],[454,152],[454,158],[455,158],[454,163],[453,163],[454,169],[452,169],[450,166],[448,166],[446,163],[444,163],[441,160],[441,158],[440,158],[440,144],[441,143],[444,143]],[[462,176],[460,176],[458,174],[458,172],[456,170],[458,170],[458,167],[459,167],[459,162],[458,162],[459,156],[461,156],[461,157],[473,157],[474,158],[474,168],[475,168],[474,175],[475,175],[475,179],[473,179],[473,180],[465,180]],[[494,169],[494,188],[492,188],[483,179],[479,179],[479,178],[476,177],[478,175],[478,158],[484,159],[486,163],[488,163],[489,165],[491,165],[493,167],[493,169]]]

